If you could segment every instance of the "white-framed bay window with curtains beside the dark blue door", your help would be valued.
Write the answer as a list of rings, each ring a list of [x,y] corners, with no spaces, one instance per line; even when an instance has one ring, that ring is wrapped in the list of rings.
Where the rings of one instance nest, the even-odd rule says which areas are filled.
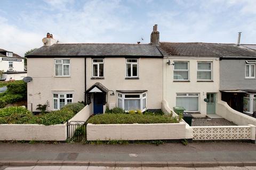
[[[147,94],[120,94],[117,95],[117,104],[124,111],[146,111],[147,109]]]

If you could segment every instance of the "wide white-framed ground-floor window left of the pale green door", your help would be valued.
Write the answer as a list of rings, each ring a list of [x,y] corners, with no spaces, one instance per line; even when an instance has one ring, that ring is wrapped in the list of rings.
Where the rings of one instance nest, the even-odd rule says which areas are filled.
[[[199,94],[177,94],[176,106],[184,107],[186,112],[199,111]]]

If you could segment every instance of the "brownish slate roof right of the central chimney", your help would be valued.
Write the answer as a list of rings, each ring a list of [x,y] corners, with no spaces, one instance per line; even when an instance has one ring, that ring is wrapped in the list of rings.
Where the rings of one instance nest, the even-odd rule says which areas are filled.
[[[175,56],[256,57],[256,50],[236,44],[163,42],[160,49]]]

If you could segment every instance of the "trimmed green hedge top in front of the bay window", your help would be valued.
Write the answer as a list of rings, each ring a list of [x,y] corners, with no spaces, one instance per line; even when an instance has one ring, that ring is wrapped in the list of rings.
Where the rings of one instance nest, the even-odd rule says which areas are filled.
[[[91,117],[87,123],[92,124],[148,124],[148,123],[179,123],[178,117],[165,115],[142,114],[101,114]]]

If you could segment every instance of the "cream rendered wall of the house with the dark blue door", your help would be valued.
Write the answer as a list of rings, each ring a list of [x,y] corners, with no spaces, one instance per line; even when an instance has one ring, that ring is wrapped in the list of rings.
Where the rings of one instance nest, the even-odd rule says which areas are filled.
[[[108,95],[108,105],[117,107],[117,93],[115,90],[148,90],[147,108],[161,109],[163,99],[163,58],[139,58],[139,80],[125,80],[126,63],[124,57],[104,58],[104,79],[91,80],[92,58],[86,58],[86,88],[100,82],[115,96]]]

